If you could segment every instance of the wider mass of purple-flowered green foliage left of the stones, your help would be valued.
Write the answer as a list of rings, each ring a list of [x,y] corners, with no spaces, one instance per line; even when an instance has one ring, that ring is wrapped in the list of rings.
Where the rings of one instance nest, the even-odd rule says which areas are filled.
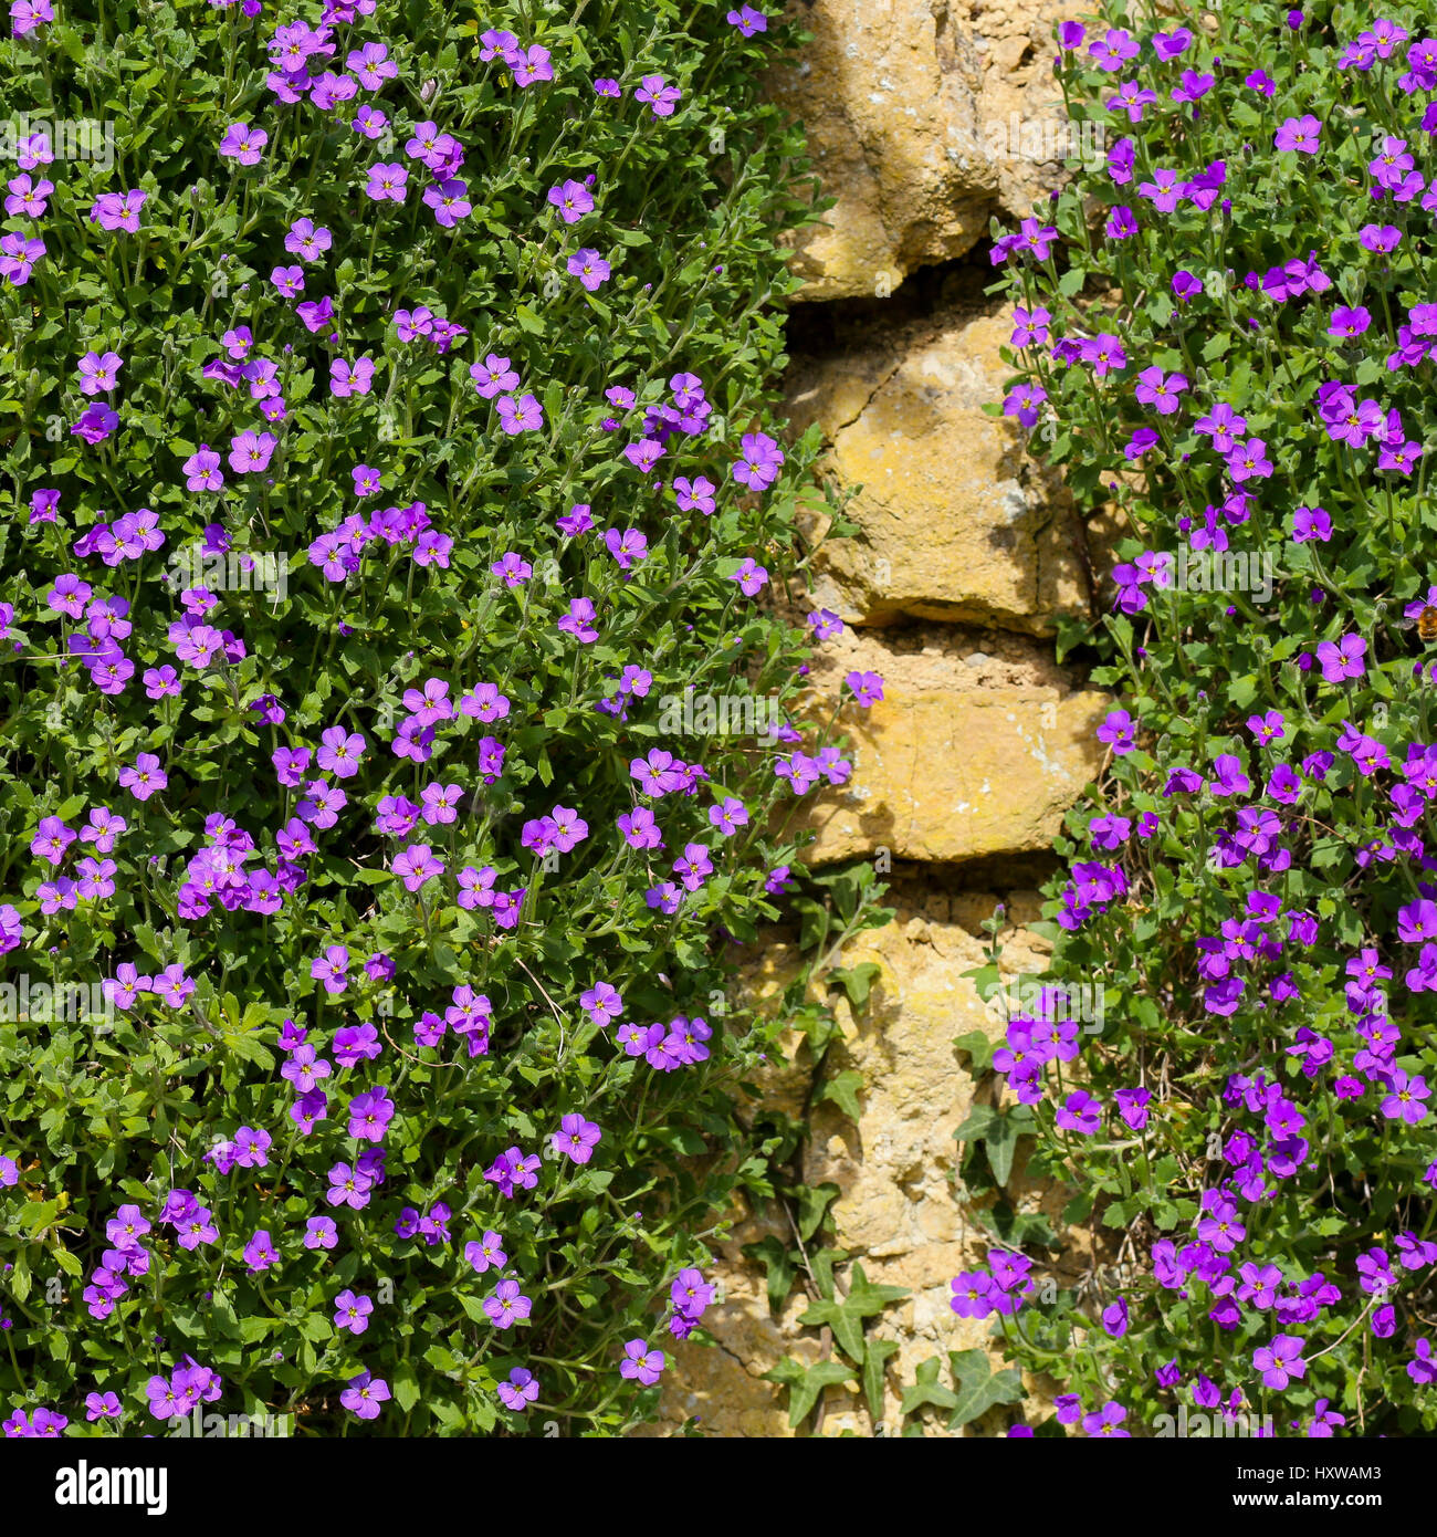
[[[5,1432],[616,1434],[768,1188],[730,942],[847,773],[767,606],[790,29],[11,25]]]

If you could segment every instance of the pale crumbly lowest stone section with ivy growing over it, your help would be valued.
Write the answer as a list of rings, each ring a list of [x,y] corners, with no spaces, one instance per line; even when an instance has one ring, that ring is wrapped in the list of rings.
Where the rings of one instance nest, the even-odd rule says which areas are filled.
[[[953,1039],[971,1030],[1001,1034],[997,1013],[985,1007],[962,973],[982,964],[979,925],[999,902],[993,893],[948,896],[908,882],[899,895],[894,922],[859,936],[845,950],[845,965],[874,962],[881,971],[870,1008],[858,1019],[839,1005],[844,1039],[830,1051],[825,1071],[856,1068],[865,1087],[855,1125],[822,1104],[813,1119],[805,1179],[831,1180],[841,1194],[833,1205],[836,1242],[859,1262],[871,1282],[907,1286],[910,1296],[870,1325],[870,1333],[899,1345],[887,1363],[884,1422],[901,1423],[902,1389],[931,1356],[987,1348],[994,1369],[1002,1362],[988,1339],[988,1325],[959,1319],[948,1306],[948,1282],[959,1270],[982,1263],[991,1236],[977,1220],[990,1197],[973,1199],[956,1183],[957,1144],[953,1131],[973,1105],[973,1079]],[[1010,927],[1004,934],[1005,965],[1036,973],[1048,950],[1022,924],[1037,916],[1036,893],[1007,896]],[[798,951],[788,942],[765,945],[765,961],[752,981],[779,987],[795,973]],[[811,1073],[811,1065],[808,1068]],[[799,1073],[798,1065],[781,1068]],[[1053,1193],[1021,1174],[1010,1185],[1025,1210],[1051,1211]],[[742,1257],[747,1243],[773,1233],[792,1243],[781,1213],[745,1214],[722,1247],[716,1274],[722,1302],[705,1316],[716,1346],[685,1342],[670,1351],[664,1397],[669,1432],[687,1419],[719,1436],[788,1436],[784,1389],[764,1382],[785,1354],[810,1365],[831,1351],[821,1331],[798,1323],[807,1297],[798,1290],[779,1314],[768,1308],[762,1268]],[[839,1276],[848,1274],[841,1266]],[[871,1436],[874,1426],[856,1385],[830,1388],[824,1399],[822,1434],[850,1429]],[[930,1429],[941,1432],[941,1422]],[[979,1432],[971,1426],[965,1434]]]

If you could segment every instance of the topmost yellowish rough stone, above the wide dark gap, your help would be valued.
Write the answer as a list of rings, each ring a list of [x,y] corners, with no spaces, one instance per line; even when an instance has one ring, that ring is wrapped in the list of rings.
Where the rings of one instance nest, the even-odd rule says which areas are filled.
[[[772,92],[838,203],[799,235],[801,298],[893,292],[964,255],[1060,172],[1053,22],[1074,0],[790,0],[813,35]]]

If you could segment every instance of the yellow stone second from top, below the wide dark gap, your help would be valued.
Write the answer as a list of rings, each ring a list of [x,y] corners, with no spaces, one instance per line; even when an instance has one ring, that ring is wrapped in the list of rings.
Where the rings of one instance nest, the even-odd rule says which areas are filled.
[[[1087,609],[1070,498],[1027,455],[1016,421],[984,410],[1004,397],[997,349],[1010,335],[1011,310],[959,303],[898,329],[874,318],[856,344],[795,358],[795,429],[819,423],[825,469],[861,487],[845,512],[859,533],[813,563],[816,603],[855,624],[914,616],[1034,635]]]

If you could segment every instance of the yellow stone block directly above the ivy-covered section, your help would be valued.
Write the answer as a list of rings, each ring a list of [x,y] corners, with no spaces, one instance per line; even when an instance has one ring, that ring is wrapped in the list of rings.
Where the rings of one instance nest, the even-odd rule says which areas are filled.
[[[879,673],[884,699],[839,716],[855,772],[801,822],[818,832],[810,864],[881,850],[957,862],[1047,848],[1102,761],[1094,732],[1110,698],[1076,689],[1034,642],[845,630],[824,642],[816,696],[833,699],[851,670]]]

